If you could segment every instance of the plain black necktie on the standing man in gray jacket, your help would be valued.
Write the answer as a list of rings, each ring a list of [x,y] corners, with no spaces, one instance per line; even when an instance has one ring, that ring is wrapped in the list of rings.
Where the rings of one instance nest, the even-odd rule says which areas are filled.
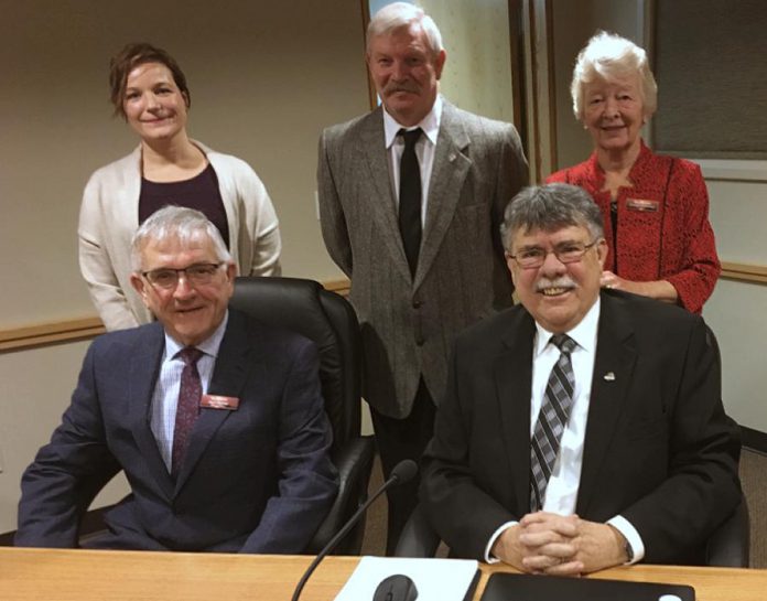
[[[400,129],[397,135],[404,138],[404,150],[400,159],[400,234],[410,276],[415,277],[421,248],[421,168],[415,155],[415,142],[421,137],[421,128],[410,131]]]

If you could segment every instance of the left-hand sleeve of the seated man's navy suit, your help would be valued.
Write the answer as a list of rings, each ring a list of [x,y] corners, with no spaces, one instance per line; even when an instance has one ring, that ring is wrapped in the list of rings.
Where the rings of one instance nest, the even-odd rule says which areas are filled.
[[[22,475],[17,546],[77,547],[83,514],[120,470],[105,439],[94,362],[91,345],[61,426]]]

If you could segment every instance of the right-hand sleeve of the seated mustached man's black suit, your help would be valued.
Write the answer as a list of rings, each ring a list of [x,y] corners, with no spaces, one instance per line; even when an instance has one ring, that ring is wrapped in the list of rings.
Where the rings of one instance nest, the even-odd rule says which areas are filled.
[[[720,397],[720,365],[703,321],[688,343],[676,406],[669,408],[669,473],[622,515],[645,543],[645,561],[673,561],[695,549],[741,498],[737,426]]]

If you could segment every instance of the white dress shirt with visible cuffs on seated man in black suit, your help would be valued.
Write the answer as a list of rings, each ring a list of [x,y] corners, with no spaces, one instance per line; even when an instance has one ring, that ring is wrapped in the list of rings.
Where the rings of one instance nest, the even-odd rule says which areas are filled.
[[[586,425],[588,421],[588,406],[591,401],[591,385],[594,375],[594,361],[596,358],[596,336],[599,324],[601,300],[596,302],[584,315],[581,322],[566,332],[575,341],[576,346],[570,357],[575,376],[573,390],[573,405],[570,409],[570,418],[562,432],[560,450],[551,472],[551,477],[545,489],[542,511],[559,515],[572,515],[575,513],[577,491],[581,484],[581,470],[583,468],[583,447],[586,439]],[[559,359],[560,350],[550,344],[552,333],[536,323],[536,339],[532,348],[532,394],[530,398],[530,438],[532,438],[538,414],[543,404],[545,387],[551,375],[551,369]],[[509,522],[498,528],[486,547],[485,559],[495,562],[490,556],[490,549],[500,534],[517,524]],[[626,537],[634,559],[631,564],[645,557],[645,545],[636,528],[625,517],[616,515],[607,520]]]

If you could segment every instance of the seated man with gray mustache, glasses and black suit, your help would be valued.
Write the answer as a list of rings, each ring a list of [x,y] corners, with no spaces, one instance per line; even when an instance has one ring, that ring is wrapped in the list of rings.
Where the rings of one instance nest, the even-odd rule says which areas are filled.
[[[602,216],[580,187],[523,190],[501,235],[520,304],[458,336],[425,515],[457,556],[528,572],[700,562],[741,497],[703,320],[599,289]]]

